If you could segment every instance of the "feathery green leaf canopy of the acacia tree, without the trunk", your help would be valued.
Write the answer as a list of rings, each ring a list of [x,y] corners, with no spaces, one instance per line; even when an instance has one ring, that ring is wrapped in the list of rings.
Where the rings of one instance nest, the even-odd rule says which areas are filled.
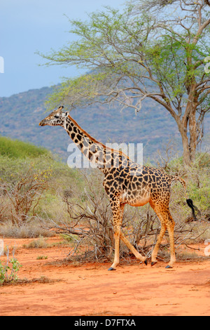
[[[202,19],[207,19],[205,11]],[[78,39],[59,51],[40,55],[47,60],[46,65],[77,65],[90,71],[76,79],[65,79],[48,102],[52,106],[61,100],[68,100],[73,106],[84,105],[85,100],[87,105],[91,99],[97,101],[98,95],[106,95],[110,100],[107,95],[112,90],[115,95],[121,86],[127,86],[127,92],[135,91],[137,98],[138,92],[139,97],[144,95],[141,84],[146,84],[148,91],[156,91],[157,95],[161,85],[164,99],[175,102],[175,107],[181,100],[181,107],[186,104],[183,95],[188,93],[190,83],[203,77],[203,60],[210,51],[209,27],[202,30],[195,42],[195,18],[180,20],[174,13],[176,24],[172,27],[170,20],[159,22],[149,11],[135,10],[134,5],[127,4],[123,11],[106,7],[91,13],[87,21],[69,22],[69,32]]]

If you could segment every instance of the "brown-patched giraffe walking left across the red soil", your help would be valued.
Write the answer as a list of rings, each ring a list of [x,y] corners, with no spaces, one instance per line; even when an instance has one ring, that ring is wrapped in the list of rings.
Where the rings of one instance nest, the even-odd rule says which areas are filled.
[[[92,138],[71,118],[69,112],[62,112],[62,109],[63,106],[60,106],[43,119],[39,125],[62,126],[85,157],[97,164],[97,168],[104,173],[103,185],[111,204],[115,235],[115,255],[109,270],[116,270],[116,267],[120,263],[120,239],[122,239],[137,259],[148,265],[147,257],[142,256],[121,231],[125,204],[144,206],[147,203],[151,205],[161,223],[160,234],[151,253],[151,265],[153,266],[157,263],[158,250],[167,230],[169,233],[171,256],[166,268],[172,268],[176,261],[176,256],[174,249],[175,223],[169,211],[170,187],[174,180],[178,180],[186,192],[185,181],[179,178],[179,176],[171,176],[165,173],[163,169],[140,166],[131,161],[125,153],[106,147]],[[192,199],[187,198],[186,201],[193,211],[194,219],[197,220]]]

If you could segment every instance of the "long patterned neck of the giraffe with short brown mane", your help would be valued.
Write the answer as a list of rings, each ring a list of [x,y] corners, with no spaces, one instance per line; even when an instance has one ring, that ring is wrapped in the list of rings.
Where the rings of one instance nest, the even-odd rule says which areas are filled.
[[[104,172],[106,169],[119,167],[123,161],[124,163],[129,161],[129,158],[126,154],[123,154],[123,152],[106,147],[92,138],[92,136],[85,132],[70,116],[66,117],[64,128],[71,140],[73,140],[73,143],[77,145],[80,152],[82,152],[90,162],[97,164],[97,167],[101,171]]]

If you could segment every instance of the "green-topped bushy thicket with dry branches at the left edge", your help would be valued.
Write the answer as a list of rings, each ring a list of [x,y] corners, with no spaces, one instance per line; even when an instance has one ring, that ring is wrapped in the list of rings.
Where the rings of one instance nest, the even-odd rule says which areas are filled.
[[[38,218],[62,216],[59,194],[79,188],[80,175],[48,150],[7,138],[0,143],[0,235],[46,235]]]

